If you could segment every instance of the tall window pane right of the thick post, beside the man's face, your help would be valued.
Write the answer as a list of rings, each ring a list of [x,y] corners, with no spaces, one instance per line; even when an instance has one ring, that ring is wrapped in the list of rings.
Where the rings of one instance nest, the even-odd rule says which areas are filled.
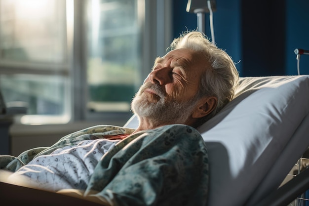
[[[141,83],[137,0],[88,2],[87,107],[129,111]]]

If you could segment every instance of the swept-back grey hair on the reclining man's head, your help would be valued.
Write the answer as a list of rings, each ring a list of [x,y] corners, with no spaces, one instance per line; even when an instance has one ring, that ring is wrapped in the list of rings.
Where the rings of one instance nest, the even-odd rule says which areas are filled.
[[[209,115],[201,118],[197,125],[194,125],[194,127],[198,127],[215,116],[232,100],[239,74],[232,58],[224,50],[212,44],[200,32],[187,31],[183,33],[171,43],[168,49],[178,48],[188,48],[201,52],[209,62],[205,65],[205,72],[200,78],[199,91],[196,97],[215,96],[218,98],[218,102],[216,108]]]

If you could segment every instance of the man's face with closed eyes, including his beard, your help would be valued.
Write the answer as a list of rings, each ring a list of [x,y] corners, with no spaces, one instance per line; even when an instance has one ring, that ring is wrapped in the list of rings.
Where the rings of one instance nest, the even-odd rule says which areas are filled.
[[[156,121],[185,124],[195,106],[194,97],[205,64],[203,55],[185,48],[157,58],[132,101],[133,112]]]

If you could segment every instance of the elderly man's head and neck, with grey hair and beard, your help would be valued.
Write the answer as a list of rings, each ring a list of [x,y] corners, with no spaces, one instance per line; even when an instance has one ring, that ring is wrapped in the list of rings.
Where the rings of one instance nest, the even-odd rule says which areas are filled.
[[[166,124],[197,127],[232,99],[238,73],[223,50],[198,32],[172,42],[157,58],[132,102],[140,120],[136,131]]]

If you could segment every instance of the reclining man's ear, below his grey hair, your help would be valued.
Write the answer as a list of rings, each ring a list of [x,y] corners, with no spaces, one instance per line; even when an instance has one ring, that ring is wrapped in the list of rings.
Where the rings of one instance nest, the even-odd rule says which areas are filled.
[[[202,118],[210,114],[217,106],[217,97],[203,97],[198,100],[198,103],[193,111],[193,118]]]

